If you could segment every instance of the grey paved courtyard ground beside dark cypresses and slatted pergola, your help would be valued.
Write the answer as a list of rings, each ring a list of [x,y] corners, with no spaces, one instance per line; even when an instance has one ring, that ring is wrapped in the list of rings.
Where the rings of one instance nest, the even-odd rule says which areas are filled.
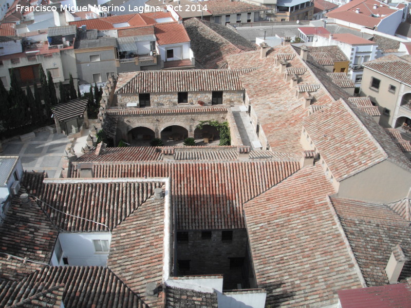
[[[0,155],[18,155],[25,170],[46,171],[49,178],[58,178],[62,156],[69,144],[67,136],[62,133],[50,134],[48,131],[37,132],[35,135],[35,138],[26,142],[15,139],[4,143]]]

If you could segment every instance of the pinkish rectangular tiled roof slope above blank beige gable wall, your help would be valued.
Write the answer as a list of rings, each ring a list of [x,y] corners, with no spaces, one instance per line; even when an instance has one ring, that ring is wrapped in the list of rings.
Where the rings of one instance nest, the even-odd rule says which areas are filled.
[[[313,113],[303,125],[338,181],[387,158],[381,146],[341,100]]]

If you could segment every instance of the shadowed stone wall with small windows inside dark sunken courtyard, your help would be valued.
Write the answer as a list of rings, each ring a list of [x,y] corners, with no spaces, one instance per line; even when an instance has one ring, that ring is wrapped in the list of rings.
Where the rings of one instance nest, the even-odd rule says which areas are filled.
[[[242,268],[230,269],[230,258],[247,260],[247,230],[233,230],[231,242],[223,242],[221,232],[212,230],[211,239],[202,239],[201,231],[190,231],[188,242],[177,242],[177,260],[190,260],[190,270],[178,275],[222,274],[223,289],[236,289],[239,283],[247,287],[243,284]]]

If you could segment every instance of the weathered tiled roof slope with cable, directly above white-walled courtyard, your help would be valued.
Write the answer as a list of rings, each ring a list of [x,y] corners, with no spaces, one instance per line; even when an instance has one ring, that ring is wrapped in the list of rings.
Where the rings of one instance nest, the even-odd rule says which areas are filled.
[[[104,232],[121,224],[158,186],[114,179],[45,180],[39,203],[53,224],[66,232]]]

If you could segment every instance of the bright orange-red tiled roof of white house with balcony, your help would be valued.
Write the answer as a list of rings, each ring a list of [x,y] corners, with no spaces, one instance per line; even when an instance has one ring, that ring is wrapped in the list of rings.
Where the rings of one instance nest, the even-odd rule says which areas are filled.
[[[154,34],[158,45],[169,45],[190,42],[190,37],[182,24],[162,23],[154,25]]]

